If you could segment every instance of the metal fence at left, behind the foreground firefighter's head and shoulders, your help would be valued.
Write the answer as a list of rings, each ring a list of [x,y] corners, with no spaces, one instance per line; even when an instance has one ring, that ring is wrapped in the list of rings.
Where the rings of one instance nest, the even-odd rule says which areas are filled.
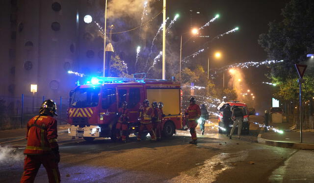
[[[35,97],[24,94],[21,97],[0,95],[0,130],[24,128],[30,118],[39,114],[40,105],[47,99],[52,99],[57,105],[58,116],[55,118],[58,124],[66,124],[69,98]]]

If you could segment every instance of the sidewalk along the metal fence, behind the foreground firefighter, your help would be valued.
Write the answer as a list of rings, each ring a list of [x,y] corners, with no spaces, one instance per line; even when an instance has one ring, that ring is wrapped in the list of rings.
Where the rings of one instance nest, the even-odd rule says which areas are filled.
[[[69,125],[58,125],[58,133],[60,131],[67,130]],[[23,138],[26,135],[26,128],[14,129],[14,130],[1,130],[0,142],[11,141],[19,138]]]

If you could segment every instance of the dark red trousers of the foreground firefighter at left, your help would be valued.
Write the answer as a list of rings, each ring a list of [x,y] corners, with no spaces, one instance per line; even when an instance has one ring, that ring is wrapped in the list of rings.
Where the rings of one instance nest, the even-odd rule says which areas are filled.
[[[21,183],[33,183],[41,164],[46,168],[49,183],[60,183],[58,164],[52,154],[27,155],[24,160],[24,173]]]

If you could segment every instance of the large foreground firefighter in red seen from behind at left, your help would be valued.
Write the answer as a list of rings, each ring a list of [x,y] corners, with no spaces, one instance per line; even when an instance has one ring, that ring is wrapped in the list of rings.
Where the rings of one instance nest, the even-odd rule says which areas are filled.
[[[56,105],[49,99],[45,100],[39,110],[39,115],[31,118],[27,123],[27,146],[24,151],[24,173],[21,183],[33,183],[41,164],[46,168],[49,183],[59,183],[60,161],[57,143]]]

